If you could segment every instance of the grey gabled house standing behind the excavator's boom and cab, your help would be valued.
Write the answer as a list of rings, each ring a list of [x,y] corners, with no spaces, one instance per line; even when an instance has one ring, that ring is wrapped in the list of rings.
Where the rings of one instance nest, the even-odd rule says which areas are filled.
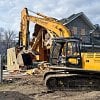
[[[84,43],[91,43],[91,35],[100,34],[100,27],[93,25],[83,12],[73,14],[60,21],[71,31],[72,36],[81,38]]]

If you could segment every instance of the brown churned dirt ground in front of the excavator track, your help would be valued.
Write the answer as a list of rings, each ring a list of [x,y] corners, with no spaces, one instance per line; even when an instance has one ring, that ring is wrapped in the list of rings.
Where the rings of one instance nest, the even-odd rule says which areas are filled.
[[[100,91],[50,91],[43,75],[24,75],[0,85],[0,100],[100,100]]]

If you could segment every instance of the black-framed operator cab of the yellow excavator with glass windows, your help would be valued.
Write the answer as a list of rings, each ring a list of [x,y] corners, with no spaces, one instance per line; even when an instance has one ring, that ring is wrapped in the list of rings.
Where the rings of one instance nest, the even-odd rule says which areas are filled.
[[[52,65],[64,65],[72,68],[80,68],[82,66],[79,39],[53,39],[50,54],[50,64]]]

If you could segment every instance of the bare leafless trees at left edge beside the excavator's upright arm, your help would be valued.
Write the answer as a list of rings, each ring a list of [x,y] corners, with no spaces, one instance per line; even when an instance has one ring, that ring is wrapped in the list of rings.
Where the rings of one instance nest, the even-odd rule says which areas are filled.
[[[0,54],[2,54],[2,64],[6,64],[7,49],[15,46],[16,34],[13,30],[0,28]]]

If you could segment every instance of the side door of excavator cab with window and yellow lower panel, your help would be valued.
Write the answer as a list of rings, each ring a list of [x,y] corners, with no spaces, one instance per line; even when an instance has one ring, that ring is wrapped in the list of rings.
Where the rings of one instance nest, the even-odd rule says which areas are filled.
[[[81,67],[80,42],[76,39],[66,41],[66,66]]]

